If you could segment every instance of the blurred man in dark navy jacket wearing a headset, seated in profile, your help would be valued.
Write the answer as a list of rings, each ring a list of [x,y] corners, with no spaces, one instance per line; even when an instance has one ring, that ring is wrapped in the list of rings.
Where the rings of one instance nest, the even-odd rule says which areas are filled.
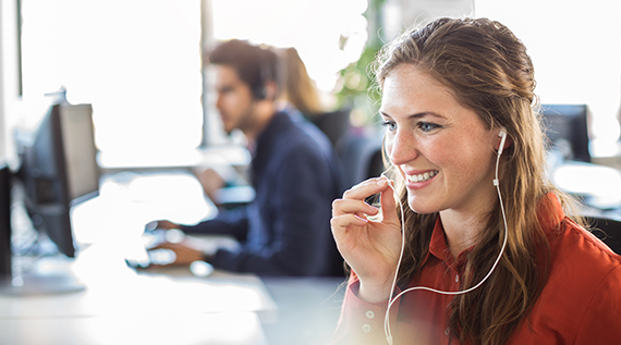
[[[278,59],[269,49],[231,40],[209,54],[216,66],[216,107],[227,133],[240,130],[253,160],[256,197],[197,225],[158,222],[185,233],[229,234],[235,249],[206,252],[181,244],[175,263],[205,260],[216,269],[260,275],[343,274],[330,231],[331,202],[342,194],[342,170],[328,138],[295,112],[279,111]]]

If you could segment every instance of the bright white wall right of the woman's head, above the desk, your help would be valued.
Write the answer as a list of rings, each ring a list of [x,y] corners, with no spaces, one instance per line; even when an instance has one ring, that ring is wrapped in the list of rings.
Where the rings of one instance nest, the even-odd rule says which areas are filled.
[[[621,95],[620,0],[475,0],[476,16],[507,25],[526,45],[543,103],[586,103],[595,156],[616,153]],[[602,145],[598,145],[602,144]]]

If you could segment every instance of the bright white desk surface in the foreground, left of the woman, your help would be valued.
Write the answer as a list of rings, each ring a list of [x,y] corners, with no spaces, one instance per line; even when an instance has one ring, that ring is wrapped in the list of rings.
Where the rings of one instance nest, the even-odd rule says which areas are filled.
[[[327,344],[340,313],[342,278],[136,272],[115,260],[88,262],[100,249],[71,262],[83,292],[0,296],[0,344],[316,345]]]

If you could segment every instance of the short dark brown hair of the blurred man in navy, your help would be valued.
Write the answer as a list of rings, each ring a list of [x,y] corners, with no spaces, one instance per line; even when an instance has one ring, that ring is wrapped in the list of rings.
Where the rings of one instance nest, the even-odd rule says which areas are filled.
[[[245,40],[232,39],[216,46],[208,53],[211,64],[233,67],[240,79],[246,83],[258,99],[266,97],[265,84],[278,79],[278,57],[271,49],[248,44]]]

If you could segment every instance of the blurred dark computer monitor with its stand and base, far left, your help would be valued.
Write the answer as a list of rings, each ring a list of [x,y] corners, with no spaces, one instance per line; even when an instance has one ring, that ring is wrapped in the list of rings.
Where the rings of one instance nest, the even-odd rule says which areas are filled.
[[[16,133],[19,169],[14,173],[2,171],[0,212],[10,214],[11,206],[16,204],[12,201],[19,201],[41,238],[38,243],[49,238],[58,251],[69,258],[75,256],[71,208],[96,196],[99,190],[92,112],[90,104],[63,102],[51,106],[34,131]],[[11,200],[11,197],[19,200]],[[0,225],[3,278],[0,293],[59,293],[76,288],[70,286],[70,280],[65,278],[16,272],[11,262],[15,255],[15,250],[11,250],[14,223],[7,223],[4,219],[9,217],[2,217]]]

